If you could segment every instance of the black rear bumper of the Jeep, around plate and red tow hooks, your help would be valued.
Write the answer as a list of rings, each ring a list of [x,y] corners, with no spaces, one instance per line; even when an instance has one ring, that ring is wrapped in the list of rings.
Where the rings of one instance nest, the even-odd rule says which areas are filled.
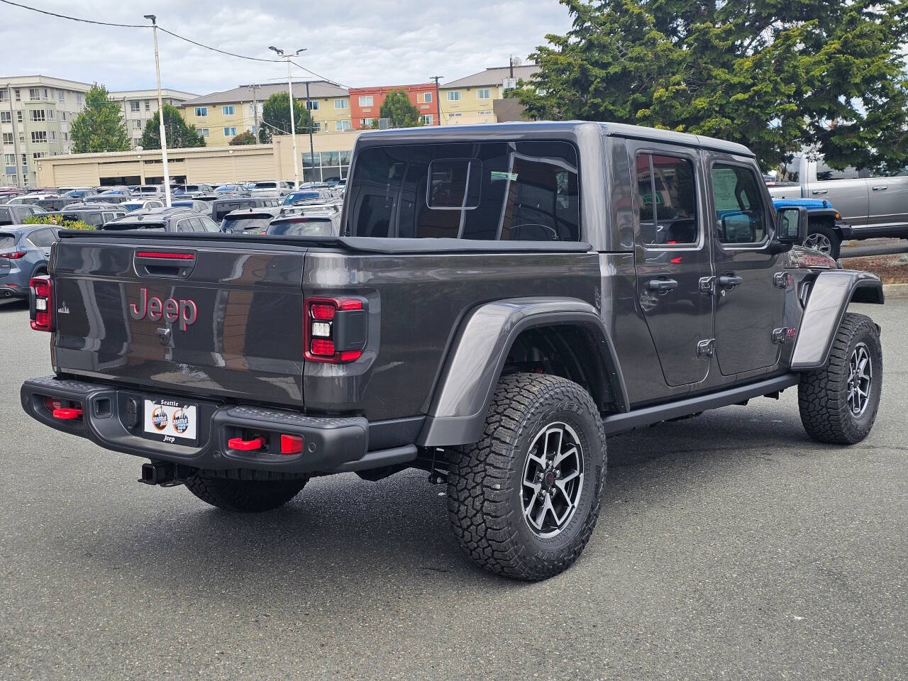
[[[197,469],[254,469],[284,473],[379,468],[416,458],[415,446],[368,451],[369,421],[362,417],[311,417],[289,410],[192,400],[198,407],[198,444],[161,442],[143,437],[142,413],[130,400],[160,397],[53,376],[26,380],[21,398],[25,412],[51,428],[90,439],[105,449]],[[82,410],[76,419],[54,418],[45,398],[67,400]],[[134,405],[135,402],[132,404]],[[281,435],[303,439],[298,454],[281,454]],[[258,451],[232,449],[232,438],[262,437]]]

